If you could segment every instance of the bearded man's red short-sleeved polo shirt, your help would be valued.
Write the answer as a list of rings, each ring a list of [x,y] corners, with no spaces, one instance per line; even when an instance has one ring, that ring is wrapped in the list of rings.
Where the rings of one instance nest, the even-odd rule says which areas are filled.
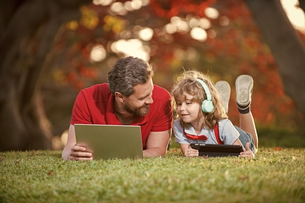
[[[142,146],[151,131],[165,131],[172,128],[172,99],[170,93],[154,85],[153,103],[145,116],[138,116],[132,124],[141,126]],[[81,90],[75,100],[71,122],[74,124],[122,125],[114,113],[114,96],[108,84],[97,84]]]

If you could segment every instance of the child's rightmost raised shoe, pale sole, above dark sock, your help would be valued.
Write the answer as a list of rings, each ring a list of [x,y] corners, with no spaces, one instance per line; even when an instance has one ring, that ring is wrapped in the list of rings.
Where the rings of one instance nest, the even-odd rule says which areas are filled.
[[[236,88],[236,103],[240,107],[247,108],[251,102],[253,78],[247,74],[238,76],[235,81],[235,88]]]

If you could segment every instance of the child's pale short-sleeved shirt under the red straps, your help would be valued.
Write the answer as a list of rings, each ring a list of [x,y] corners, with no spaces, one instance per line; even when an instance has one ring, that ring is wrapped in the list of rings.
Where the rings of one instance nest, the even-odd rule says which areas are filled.
[[[225,145],[232,145],[240,135],[229,119],[222,119],[218,122],[218,131],[219,131],[219,138],[224,142]],[[185,128],[185,132],[188,134],[195,136],[205,135],[208,137],[208,140],[198,140],[198,139],[189,140],[186,137],[186,135],[183,134],[183,128],[180,125],[179,118],[174,120],[173,122],[173,132],[175,135],[175,142],[179,144],[190,144],[190,143],[218,144],[215,137],[214,129],[203,128],[200,134],[197,134],[193,127]]]

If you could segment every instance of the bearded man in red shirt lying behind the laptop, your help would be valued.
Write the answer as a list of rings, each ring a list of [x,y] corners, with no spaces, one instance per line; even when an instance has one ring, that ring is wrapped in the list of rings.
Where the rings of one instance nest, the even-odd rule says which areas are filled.
[[[152,77],[148,62],[129,56],[115,62],[108,83],[80,91],[61,157],[93,159],[93,153],[76,145],[74,124],[141,126],[143,156],[165,155],[172,134],[172,100],[168,91],[153,85]]]

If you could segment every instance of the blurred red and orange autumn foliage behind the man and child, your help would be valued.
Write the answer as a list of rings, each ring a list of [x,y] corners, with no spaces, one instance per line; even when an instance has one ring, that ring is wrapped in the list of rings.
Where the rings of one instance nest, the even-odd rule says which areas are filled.
[[[172,35],[163,33],[163,26],[169,23],[173,16],[186,18],[191,14],[197,18],[206,17],[205,9],[213,6],[217,8],[219,18],[229,18],[229,25],[221,26],[219,18],[210,19],[212,27],[207,30],[206,41],[198,42],[192,39],[189,32]],[[108,48],[109,55],[112,55],[109,42],[120,39],[120,36],[112,30],[103,29],[105,22],[102,19],[108,15],[109,6],[91,5],[90,7],[100,18],[99,26],[94,31],[83,26],[79,26],[76,32],[66,31],[60,43],[55,46],[58,51],[64,47],[63,43],[67,43],[65,54],[70,61],[69,67],[73,68],[71,73],[67,74],[67,80],[78,89],[87,84],[85,80],[97,80],[98,69],[92,67],[90,62],[92,44],[103,44]],[[147,15],[149,18],[138,20],[141,16]],[[233,123],[238,125],[234,81],[239,74],[250,74],[254,79],[251,111],[256,122],[262,125],[275,123],[286,125],[288,120],[293,122],[302,120],[293,101],[284,93],[275,60],[243,0],[151,0],[149,6],[116,18],[118,20],[121,18],[125,22],[124,32],[133,33],[134,26],[141,23],[143,27],[154,29],[154,36],[147,44],[154,46],[151,62],[157,70],[156,74],[163,74],[163,78],[164,75],[167,77],[167,80],[157,81],[161,86],[171,87],[174,74],[180,73],[185,65],[189,68],[189,64],[205,73],[217,75],[218,79],[228,80],[232,88],[229,116]],[[216,36],[211,36],[209,33],[216,33]],[[303,34],[300,33],[300,36],[305,40]],[[69,44],[72,39],[75,42]],[[199,55],[198,61],[185,62],[184,59],[174,55],[178,49],[189,48],[196,50]]]

